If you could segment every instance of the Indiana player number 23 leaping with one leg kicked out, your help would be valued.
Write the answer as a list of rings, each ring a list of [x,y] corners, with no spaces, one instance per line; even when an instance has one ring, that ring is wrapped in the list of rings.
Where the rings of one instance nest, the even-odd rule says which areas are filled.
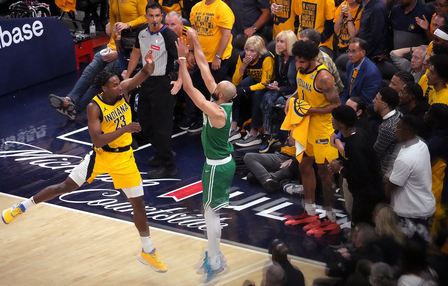
[[[142,83],[154,71],[154,55],[149,51],[146,65],[132,79],[122,82],[112,73],[100,71],[95,76],[93,86],[101,88],[102,94],[95,96],[87,106],[88,130],[93,146],[89,154],[76,166],[64,182],[44,188],[28,200],[17,203],[2,212],[2,220],[9,224],[33,205],[54,199],[56,196],[73,192],[87,181],[92,182],[97,175],[109,173],[115,188],[121,188],[134,210],[134,225],[142,240],[142,252],[138,260],[151,266],[157,272],[167,272],[165,265],[155,254],[149,234],[143,184],[135,164],[130,144],[131,133],[139,132],[140,124],[132,122],[131,109],[123,90],[127,91]],[[129,96],[128,96],[129,99]]]

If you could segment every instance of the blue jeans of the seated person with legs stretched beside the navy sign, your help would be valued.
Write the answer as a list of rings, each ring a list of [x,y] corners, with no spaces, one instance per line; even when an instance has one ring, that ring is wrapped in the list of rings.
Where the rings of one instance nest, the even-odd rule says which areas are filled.
[[[113,71],[112,71],[113,67]],[[90,80],[92,80],[95,75],[98,74],[100,70],[112,71],[112,73],[120,73],[120,64],[118,60],[114,60],[110,63],[106,63],[103,57],[97,52],[93,57],[92,62],[84,69],[81,77],[76,82],[73,90],[70,91],[68,96],[75,103],[75,111],[81,112],[86,109],[90,100],[97,94],[101,93],[101,89],[96,89],[90,85]]]

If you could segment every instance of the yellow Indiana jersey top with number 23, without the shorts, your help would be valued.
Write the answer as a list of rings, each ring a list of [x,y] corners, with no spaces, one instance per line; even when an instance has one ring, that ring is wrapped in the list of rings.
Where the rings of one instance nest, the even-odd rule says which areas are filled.
[[[100,110],[99,121],[101,121],[101,131],[103,133],[114,132],[116,129],[126,126],[132,122],[131,108],[126,102],[125,98],[117,100],[114,105],[109,105],[101,99],[101,94],[92,98],[92,102],[98,105]],[[111,148],[119,148],[129,146],[132,143],[131,133],[125,133],[110,142],[108,145]],[[102,146],[95,146],[100,148]]]

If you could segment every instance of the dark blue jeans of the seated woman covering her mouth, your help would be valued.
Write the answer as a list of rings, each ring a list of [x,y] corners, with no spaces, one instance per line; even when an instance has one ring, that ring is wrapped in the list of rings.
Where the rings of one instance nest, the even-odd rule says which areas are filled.
[[[255,85],[258,82],[254,80],[253,77],[246,77],[241,81],[238,87],[247,87],[250,85]],[[262,126],[262,118],[263,115],[261,113],[260,103],[263,98],[264,93],[266,92],[266,89],[263,90],[254,90],[249,91],[247,93],[248,97],[252,98],[252,120],[250,121],[250,127],[258,129]],[[242,95],[244,96],[244,95]],[[239,121],[240,119],[240,96],[237,96],[236,98],[233,98],[233,106],[232,106],[232,117],[233,121]]]

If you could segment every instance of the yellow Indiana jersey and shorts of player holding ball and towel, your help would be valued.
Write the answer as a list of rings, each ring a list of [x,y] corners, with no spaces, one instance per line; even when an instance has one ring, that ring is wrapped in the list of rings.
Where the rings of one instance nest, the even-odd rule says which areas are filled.
[[[324,107],[330,104],[322,91],[317,90],[315,85],[317,74],[322,70],[328,71],[325,65],[319,64],[314,70],[306,74],[297,72],[298,98],[308,102],[311,107]],[[321,146],[322,144],[316,141],[329,140],[331,133],[334,131],[332,128],[332,115],[310,113],[309,116],[308,142],[312,145]]]

